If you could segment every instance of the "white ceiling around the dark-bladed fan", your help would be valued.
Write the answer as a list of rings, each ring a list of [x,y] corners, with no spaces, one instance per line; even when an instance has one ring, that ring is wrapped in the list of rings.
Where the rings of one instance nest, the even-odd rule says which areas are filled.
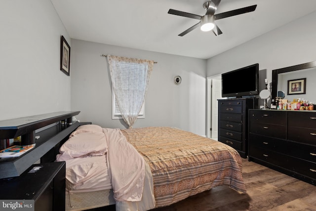
[[[168,10],[204,15],[205,1],[51,0],[73,39],[202,59],[316,11],[316,0],[222,0],[215,14],[253,4],[257,8],[254,12],[217,20],[222,35],[197,28],[179,37],[178,34],[199,21],[168,14]]]

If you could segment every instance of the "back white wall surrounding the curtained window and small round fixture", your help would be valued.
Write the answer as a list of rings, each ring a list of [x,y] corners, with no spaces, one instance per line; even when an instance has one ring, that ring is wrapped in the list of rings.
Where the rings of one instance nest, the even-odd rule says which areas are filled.
[[[80,122],[126,128],[112,120],[112,93],[106,57],[111,54],[157,61],[146,96],[145,119],[134,127],[179,127],[205,135],[206,60],[144,51],[95,42],[72,40],[71,109]],[[181,76],[175,85],[173,78]]]

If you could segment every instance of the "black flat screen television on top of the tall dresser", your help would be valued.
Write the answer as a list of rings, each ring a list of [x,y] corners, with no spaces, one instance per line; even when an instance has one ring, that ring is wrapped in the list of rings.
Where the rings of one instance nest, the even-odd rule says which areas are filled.
[[[259,94],[259,64],[222,74],[222,97]]]

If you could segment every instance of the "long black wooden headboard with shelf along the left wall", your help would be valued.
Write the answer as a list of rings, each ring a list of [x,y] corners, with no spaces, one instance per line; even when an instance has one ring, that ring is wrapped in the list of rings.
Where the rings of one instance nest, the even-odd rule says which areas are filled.
[[[0,159],[0,178],[19,176],[35,162],[40,160],[41,157],[43,157],[47,152],[52,150],[58,143],[64,139],[67,139],[72,131],[82,125],[79,122],[72,123],[70,120],[77,114],[79,114],[79,111],[56,112],[33,116],[32,118],[25,117],[14,120],[0,121],[0,139],[5,139],[3,137],[12,138],[12,136],[8,137],[7,134],[13,133],[18,135],[34,133],[36,136],[40,136],[40,138],[36,140],[34,149],[16,158]],[[60,124],[59,121],[65,121],[66,123]],[[19,122],[22,124],[16,124],[16,126],[13,126],[14,122]],[[5,123],[8,123],[8,125],[4,126]],[[35,133],[36,129],[51,125],[53,123],[58,124]],[[7,132],[5,130],[12,131]]]

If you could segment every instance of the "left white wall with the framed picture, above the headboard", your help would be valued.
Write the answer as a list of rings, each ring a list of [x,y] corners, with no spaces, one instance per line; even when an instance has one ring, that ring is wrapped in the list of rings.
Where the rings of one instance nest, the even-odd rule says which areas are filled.
[[[60,71],[60,36],[70,38],[50,0],[0,0],[0,120],[70,110]]]

